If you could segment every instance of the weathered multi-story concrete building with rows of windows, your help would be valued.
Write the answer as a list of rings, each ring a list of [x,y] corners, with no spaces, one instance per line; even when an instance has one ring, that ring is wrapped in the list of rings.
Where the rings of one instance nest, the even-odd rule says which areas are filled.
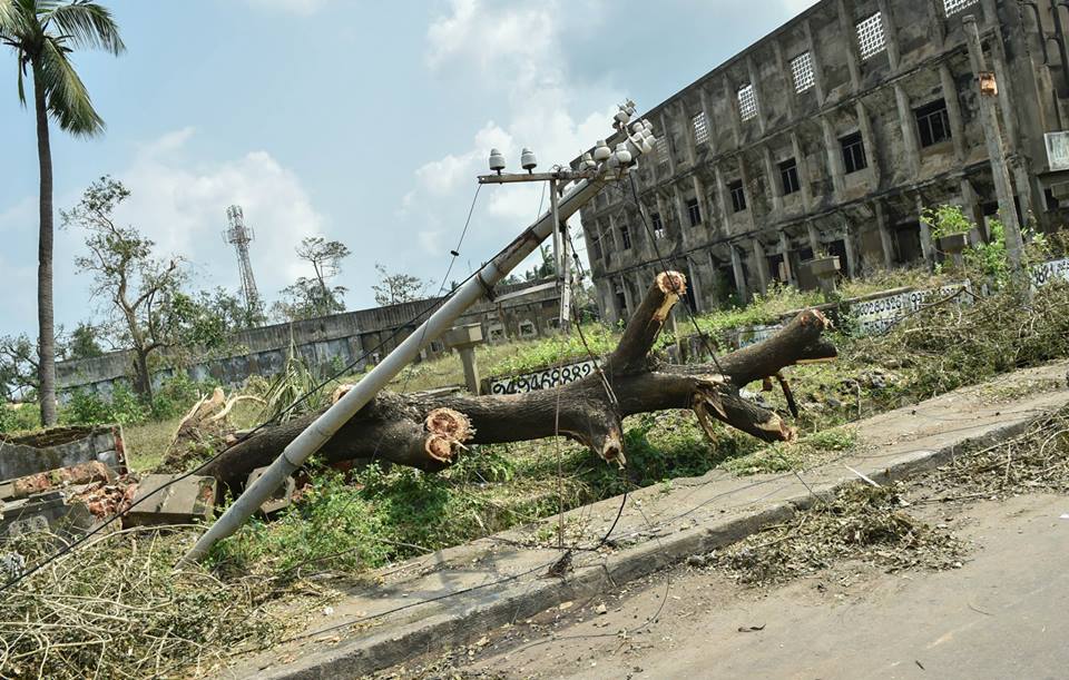
[[[648,111],[657,154],[632,173],[647,220],[626,181],[580,214],[605,316],[635,309],[658,253],[699,311],[774,280],[812,286],[800,264],[820,252],[846,276],[934,262],[925,206],[960,205],[980,225],[999,211],[988,137],[1004,149],[1003,209],[1063,224],[1069,9],[1057,7],[823,0]],[[969,16],[985,69],[970,60]],[[997,116],[981,115],[981,80]]]

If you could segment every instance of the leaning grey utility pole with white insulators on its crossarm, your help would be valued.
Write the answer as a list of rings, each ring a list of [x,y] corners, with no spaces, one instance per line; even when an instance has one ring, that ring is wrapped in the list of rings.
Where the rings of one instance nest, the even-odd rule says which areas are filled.
[[[208,550],[219,540],[232,535],[253,516],[253,513],[266,501],[272,493],[291,474],[297,471],[308,460],[308,457],[318,451],[334,434],[352,418],[356,413],[369,404],[379,392],[390,383],[406,365],[409,365],[420,351],[431,341],[437,339],[442,333],[449,331],[468,307],[475,304],[486,296],[492,296],[493,286],[502,278],[508,276],[517,265],[534,252],[547,237],[551,236],[558,229],[558,218],[567,219],[579,208],[591,200],[609,181],[626,176],[632,158],[640,154],[648,154],[653,150],[653,126],[649,121],[639,121],[634,124],[632,132],[628,132],[627,124],[635,112],[635,105],[630,101],[626,107],[620,107],[620,112],[616,115],[616,128],[621,139],[617,145],[615,152],[609,151],[606,144],[600,141],[595,154],[599,161],[583,162],[578,171],[559,170],[551,176],[541,177],[542,180],[555,179],[558,181],[576,181],[575,186],[565,194],[559,201],[558,216],[547,213],[520,234],[511,244],[508,245],[493,259],[483,265],[474,276],[467,283],[457,288],[442,304],[442,306],[432,314],[423,324],[409,335],[404,342],[391,352],[386,358],[375,366],[371,373],[365,375],[352,390],[342,396],[334,405],[320,415],[306,430],[296,438],[290,442],[275,461],[266,471],[248,486],[234,504],[213,524],[204,535],[197,540],[196,544],[183,558],[183,562],[199,562],[207,554]],[[531,170],[534,168],[534,155],[524,150],[524,169],[527,175],[522,178],[511,179],[511,181],[521,181],[531,177]],[[530,155],[530,162],[527,160]],[[587,155],[589,157],[589,155]],[[504,167],[504,160],[497,150],[490,155],[490,167],[498,173],[499,184],[510,181],[513,176],[500,176]],[[484,178],[480,178],[482,181]]]

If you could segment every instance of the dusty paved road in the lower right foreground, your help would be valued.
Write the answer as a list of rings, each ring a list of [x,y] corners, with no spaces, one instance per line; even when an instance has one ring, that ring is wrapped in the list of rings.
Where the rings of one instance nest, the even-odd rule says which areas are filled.
[[[763,591],[677,569],[619,599],[576,603],[538,629],[502,631],[462,669],[504,678],[1069,678],[1069,497],[936,512],[977,544],[961,569],[837,565]],[[596,612],[599,603],[607,613]],[[656,622],[634,632],[663,603]],[[529,643],[499,647],[517,634]]]

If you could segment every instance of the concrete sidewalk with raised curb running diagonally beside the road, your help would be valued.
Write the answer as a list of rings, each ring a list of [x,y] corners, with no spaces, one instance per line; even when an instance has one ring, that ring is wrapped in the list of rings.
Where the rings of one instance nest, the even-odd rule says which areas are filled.
[[[415,653],[475,641],[486,631],[567,600],[591,597],[688,555],[779,522],[855,480],[883,482],[1020,433],[1069,404],[1069,362],[1020,371],[857,423],[860,444],[798,473],[736,477],[723,470],[647,487],[568,513],[582,550],[565,578],[547,578],[561,552],[528,548],[513,530],[369,574],[371,588],[291,641],[229,669],[231,678],[355,677]],[[610,541],[598,546],[619,515]],[[556,519],[551,520],[556,521]],[[596,550],[595,550],[596,548]]]

